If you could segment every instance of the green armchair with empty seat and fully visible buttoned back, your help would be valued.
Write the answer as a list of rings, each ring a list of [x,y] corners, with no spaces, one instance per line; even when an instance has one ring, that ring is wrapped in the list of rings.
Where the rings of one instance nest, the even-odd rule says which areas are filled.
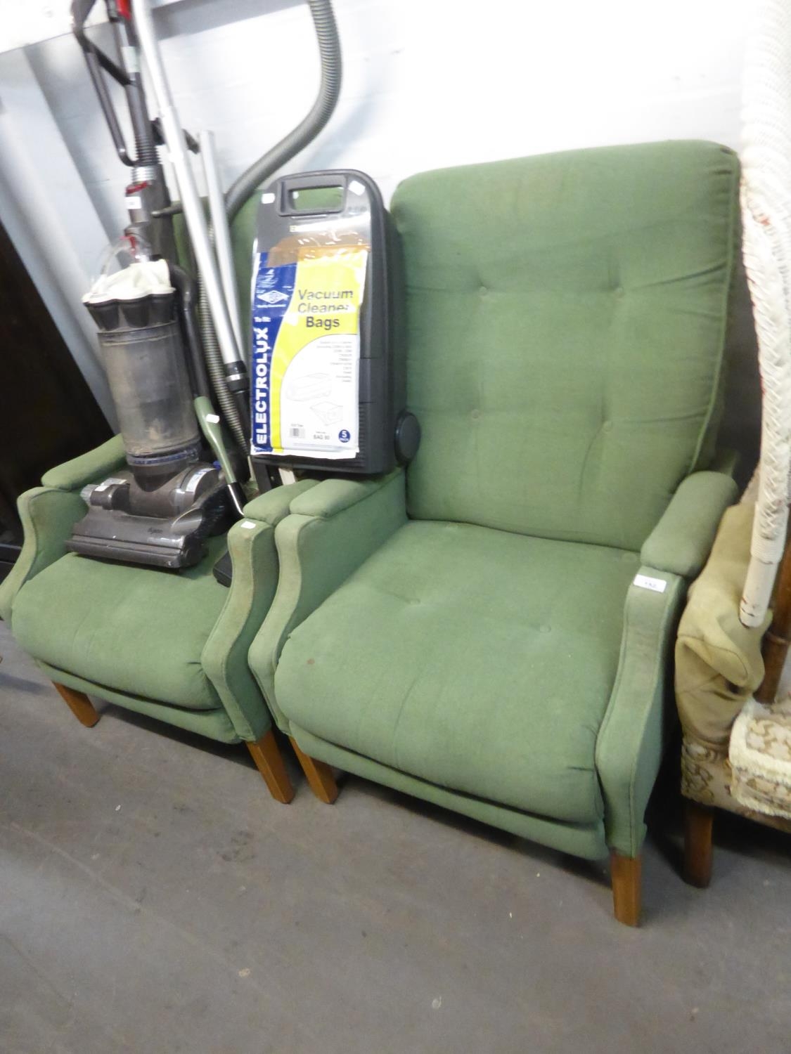
[[[639,916],[672,651],[710,471],[738,163],[706,142],[427,173],[397,192],[420,451],[275,527],[250,665],[331,766],[580,857]]]

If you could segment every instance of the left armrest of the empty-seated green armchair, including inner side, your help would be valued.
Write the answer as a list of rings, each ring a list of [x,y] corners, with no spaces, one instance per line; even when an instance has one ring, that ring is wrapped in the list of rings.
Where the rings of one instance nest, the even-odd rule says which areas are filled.
[[[324,480],[291,502],[277,525],[277,592],[250,648],[250,665],[282,726],[274,670],[289,633],[406,523],[404,473]]]

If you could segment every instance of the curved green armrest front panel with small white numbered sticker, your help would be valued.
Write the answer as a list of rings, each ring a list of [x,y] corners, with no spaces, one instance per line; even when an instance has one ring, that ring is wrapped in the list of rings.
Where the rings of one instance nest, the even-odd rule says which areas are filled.
[[[623,856],[640,851],[645,806],[673,726],[671,660],[686,589],[680,575],[643,566],[626,593],[618,671],[596,741],[606,841]]]

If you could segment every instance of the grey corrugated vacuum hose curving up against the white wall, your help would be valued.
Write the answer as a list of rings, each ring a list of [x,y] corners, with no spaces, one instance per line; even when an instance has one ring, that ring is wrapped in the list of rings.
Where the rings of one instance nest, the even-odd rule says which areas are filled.
[[[304,120],[292,132],[289,132],[287,136],[281,139],[275,147],[251,164],[246,172],[243,172],[232,184],[226,194],[226,212],[228,213],[229,225],[233,222],[234,217],[252,192],[257,187],[261,187],[262,183],[265,183],[274,172],[282,169],[284,164],[287,164],[295,154],[304,150],[319,135],[335,109],[339,95],[341,94],[342,64],[341,41],[337,37],[332,4],[330,0],[308,0],[308,5],[319,40],[319,53],[322,62],[322,82],[319,87],[319,95],[310,113],[307,114]],[[204,353],[206,355],[209,376],[211,377],[217,402],[223,409],[225,419],[228,422],[234,438],[245,453],[247,453],[246,430],[233,393],[229,390],[226,383],[223,357],[219,353],[219,346],[214,333],[206,291],[199,278],[198,281],[198,317],[200,319]]]

